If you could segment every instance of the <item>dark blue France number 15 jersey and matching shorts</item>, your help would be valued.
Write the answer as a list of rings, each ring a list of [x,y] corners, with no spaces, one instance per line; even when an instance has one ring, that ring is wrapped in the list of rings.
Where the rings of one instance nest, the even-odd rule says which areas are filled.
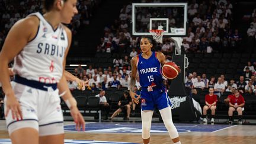
[[[149,59],[144,59],[142,54],[138,56],[137,71],[139,73],[140,85],[142,86],[141,108],[142,110],[159,110],[171,105],[167,90],[162,84],[161,63],[152,52]]]

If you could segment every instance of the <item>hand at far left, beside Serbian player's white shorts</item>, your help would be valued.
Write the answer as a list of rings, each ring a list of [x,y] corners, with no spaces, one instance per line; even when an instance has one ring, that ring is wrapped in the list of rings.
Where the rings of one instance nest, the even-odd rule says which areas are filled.
[[[14,92],[7,95],[6,108],[5,117],[8,116],[9,111],[11,110],[12,119],[23,120],[20,103],[18,103],[18,100],[15,98]]]

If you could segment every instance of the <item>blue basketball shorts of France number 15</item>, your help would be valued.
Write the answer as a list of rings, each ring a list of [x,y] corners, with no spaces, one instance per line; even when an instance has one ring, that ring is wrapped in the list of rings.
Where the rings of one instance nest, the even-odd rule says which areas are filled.
[[[142,110],[155,110],[155,108],[162,110],[168,106],[171,107],[171,101],[165,88],[153,89],[150,92],[147,89],[142,89],[140,98]]]

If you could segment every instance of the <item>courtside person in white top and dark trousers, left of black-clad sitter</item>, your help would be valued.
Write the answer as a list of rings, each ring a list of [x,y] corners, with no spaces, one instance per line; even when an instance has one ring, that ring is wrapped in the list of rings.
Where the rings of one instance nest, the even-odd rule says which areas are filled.
[[[95,97],[100,97],[100,110],[103,116],[103,120],[108,119],[108,114],[110,111],[110,105],[107,103],[107,98],[105,97],[105,91],[101,90],[100,94],[95,95]]]

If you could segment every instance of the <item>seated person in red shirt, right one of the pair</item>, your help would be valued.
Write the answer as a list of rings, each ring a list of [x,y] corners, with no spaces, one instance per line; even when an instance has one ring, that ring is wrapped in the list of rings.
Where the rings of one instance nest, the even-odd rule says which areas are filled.
[[[244,104],[244,97],[239,93],[238,89],[235,89],[235,95],[233,95],[229,101],[229,124],[233,123],[233,111],[238,112],[238,124],[242,124],[242,108]]]

